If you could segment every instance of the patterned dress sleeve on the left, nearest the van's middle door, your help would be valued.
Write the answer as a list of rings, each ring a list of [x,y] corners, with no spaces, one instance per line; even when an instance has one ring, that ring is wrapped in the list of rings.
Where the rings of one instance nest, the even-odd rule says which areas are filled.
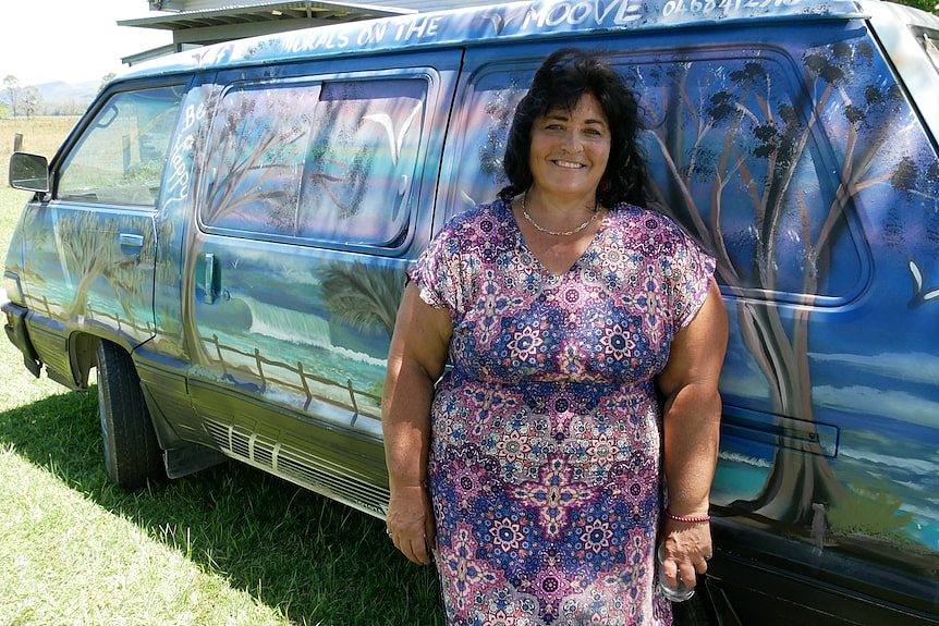
[[[464,284],[463,254],[455,231],[454,224],[448,224],[407,270],[407,277],[417,285],[420,299],[434,308],[450,309],[454,320],[463,302]]]

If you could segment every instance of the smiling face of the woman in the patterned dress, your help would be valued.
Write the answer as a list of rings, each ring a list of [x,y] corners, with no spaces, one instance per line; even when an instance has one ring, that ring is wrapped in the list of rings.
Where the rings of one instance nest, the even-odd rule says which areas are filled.
[[[572,111],[535,120],[528,167],[534,187],[559,200],[593,201],[610,158],[610,123],[593,94]]]

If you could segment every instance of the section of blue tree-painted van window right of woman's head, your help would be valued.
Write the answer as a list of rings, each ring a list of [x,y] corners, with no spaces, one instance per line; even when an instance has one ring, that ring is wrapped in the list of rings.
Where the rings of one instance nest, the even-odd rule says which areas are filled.
[[[841,72],[822,52],[796,62]],[[623,71],[644,95],[658,196],[718,257],[725,293],[838,306],[866,286],[869,268],[829,165],[840,155],[822,148],[812,100],[793,88],[795,67],[755,50]]]

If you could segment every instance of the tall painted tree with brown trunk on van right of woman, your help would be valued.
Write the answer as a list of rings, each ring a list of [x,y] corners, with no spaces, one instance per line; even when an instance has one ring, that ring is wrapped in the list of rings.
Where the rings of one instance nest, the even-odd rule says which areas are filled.
[[[651,160],[664,163],[659,192],[674,217],[718,259],[731,293],[758,290],[769,304],[735,300],[746,346],[768,383],[773,412],[812,422],[808,358],[809,307],[783,315],[776,293],[813,294],[831,278],[833,249],[845,233],[845,209],[864,189],[890,184],[902,164],[883,171],[877,156],[902,126],[900,93],[871,76],[866,41],[839,42],[802,59],[809,88],[786,97],[783,74],[771,58],[734,64],[671,63],[639,72],[658,112],[649,136]],[[812,143],[824,119],[834,126],[838,187],[826,195],[802,184],[813,174]],[[804,180],[809,180],[805,177]],[[817,187],[817,185],[816,185]],[[724,232],[725,213],[749,212],[745,232]],[[784,268],[780,269],[780,268]],[[792,281],[793,272],[800,273]],[[783,284],[786,283],[786,284]],[[801,283],[801,284],[798,284]],[[788,434],[780,422],[783,434]],[[808,525],[813,503],[836,503],[844,488],[818,443],[801,429],[777,449],[769,478],[753,501],[733,506],[768,518]]]

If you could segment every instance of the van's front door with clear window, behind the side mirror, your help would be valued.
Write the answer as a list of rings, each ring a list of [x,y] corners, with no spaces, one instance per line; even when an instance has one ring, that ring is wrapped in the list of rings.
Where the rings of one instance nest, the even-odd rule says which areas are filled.
[[[54,339],[38,332],[52,370],[70,369],[69,329],[126,347],[154,335],[154,213],[182,94],[122,86],[102,99],[53,162],[51,196],[25,209],[28,305],[64,329]]]

